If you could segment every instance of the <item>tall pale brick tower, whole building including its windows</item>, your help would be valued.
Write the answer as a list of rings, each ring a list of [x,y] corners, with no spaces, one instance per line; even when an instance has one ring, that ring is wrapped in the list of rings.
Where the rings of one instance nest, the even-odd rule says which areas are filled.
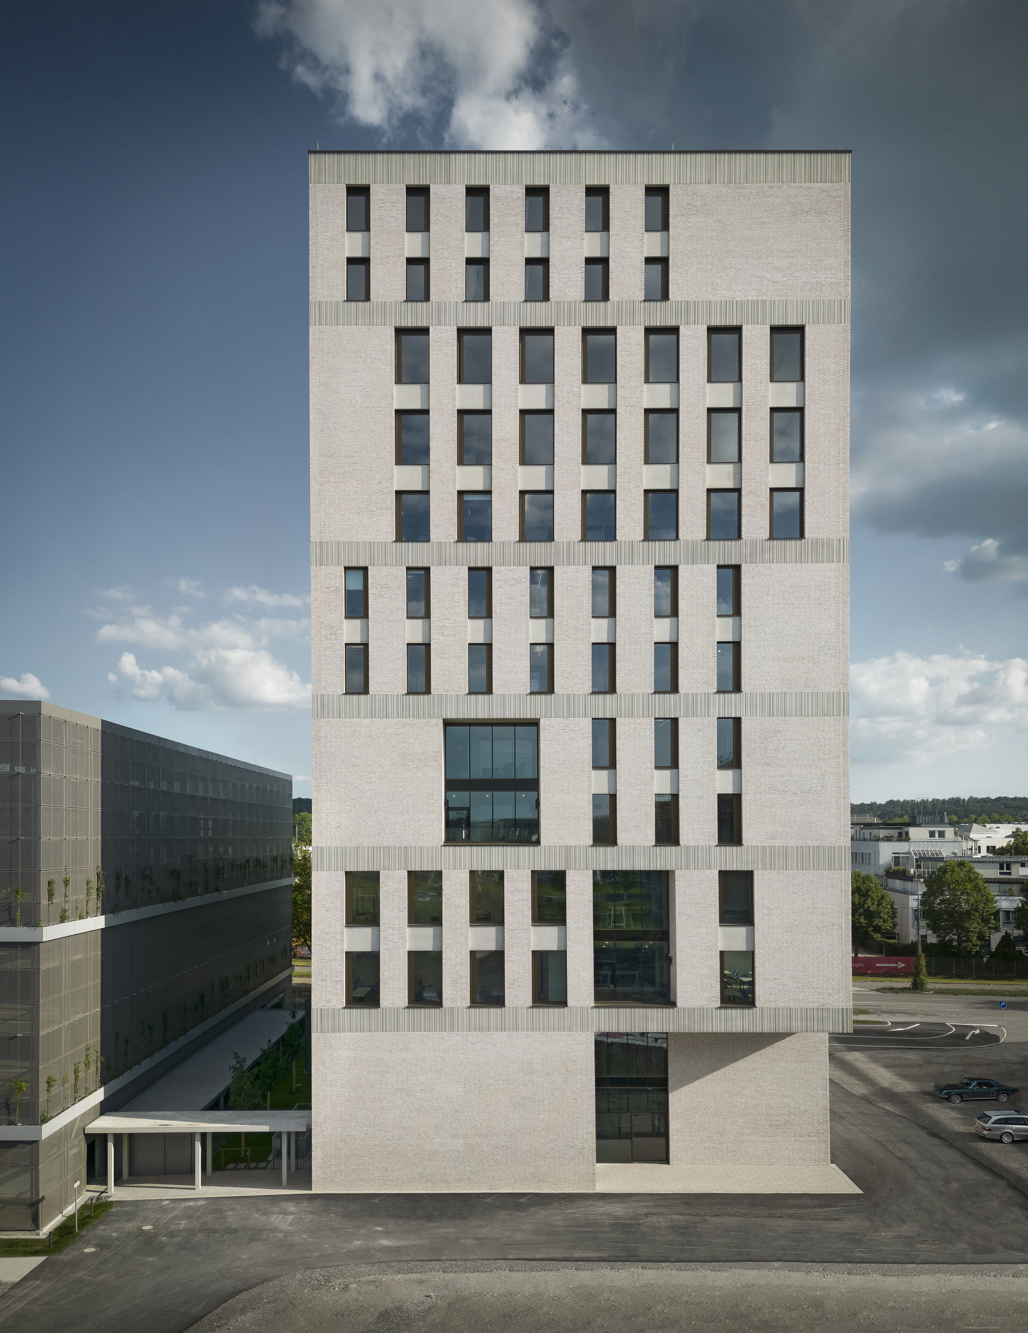
[[[309,163],[315,1188],[831,1188],[849,155]]]

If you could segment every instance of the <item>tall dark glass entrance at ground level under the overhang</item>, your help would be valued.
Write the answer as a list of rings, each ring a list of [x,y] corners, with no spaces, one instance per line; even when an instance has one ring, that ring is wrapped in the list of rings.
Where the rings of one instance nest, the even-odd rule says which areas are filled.
[[[596,1161],[668,1160],[668,1036],[596,1034]]]

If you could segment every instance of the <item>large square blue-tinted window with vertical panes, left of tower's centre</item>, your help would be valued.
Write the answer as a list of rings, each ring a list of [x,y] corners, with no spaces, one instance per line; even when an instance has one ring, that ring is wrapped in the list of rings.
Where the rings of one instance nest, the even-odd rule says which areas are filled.
[[[447,842],[539,841],[535,725],[445,726]]]

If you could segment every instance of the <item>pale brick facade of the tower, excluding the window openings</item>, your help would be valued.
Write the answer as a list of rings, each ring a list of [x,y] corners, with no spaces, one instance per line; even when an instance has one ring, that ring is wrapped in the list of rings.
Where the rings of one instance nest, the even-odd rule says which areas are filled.
[[[348,187],[369,188],[363,301],[347,300]],[[489,300],[465,303],[465,191],[483,187]],[[549,301],[523,301],[527,187],[549,191]],[[584,199],[595,187],[609,191],[608,303],[583,301],[595,240]],[[655,244],[647,187],[667,189],[663,301],[643,299]],[[429,191],[427,303],[404,300],[408,188]],[[849,156],[312,153],[309,272],[315,1188],[595,1189],[596,1033],[667,1033],[672,1169],[827,1166],[827,1034],[852,1021]],[[617,337],[616,540],[601,543],[583,540],[589,328]],[[708,540],[707,492],[723,484],[708,469],[709,328],[741,340],[733,540]],[[801,537],[775,540],[772,336],[797,328],[803,381],[785,388],[804,413],[804,525]],[[429,541],[397,540],[404,329],[429,335]],[[461,329],[492,332],[492,540],[477,544],[457,541]],[[551,541],[519,540],[521,329],[553,332]],[[648,329],[679,340],[673,540],[644,540]],[[668,565],[677,569],[677,690],[657,694],[653,644],[665,631],[655,623],[653,568]],[[595,567],[616,568],[616,693],[591,692]],[[741,689],[728,693],[716,692],[716,644],[728,633],[717,567],[740,579]],[[405,568],[431,571],[431,693],[407,692]],[[468,620],[468,568],[491,569],[491,694],[468,693],[468,643],[481,632]],[[552,693],[529,693],[532,568],[553,571]],[[347,690],[357,631],[344,617],[345,569],[367,571],[367,692]],[[593,717],[616,728],[616,845],[593,844]],[[655,770],[655,717],[677,720],[671,788],[656,785],[669,780]],[[717,768],[719,717],[741,718],[737,770]],[[489,720],[537,724],[537,837],[447,841],[445,724]],[[655,790],[677,793],[673,845],[655,842]],[[741,842],[719,844],[717,793],[740,790]],[[471,1002],[473,869],[504,872],[503,1006]],[[443,876],[441,1005],[412,1004],[408,989],[408,949],[423,948],[408,922],[408,873],[420,870]],[[565,876],[567,1005],[535,1002],[533,870]],[[599,870],[667,876],[663,1004],[596,1002]],[[348,1004],[347,872],[379,874],[377,1006]],[[739,948],[723,941],[739,936],[724,934],[720,872],[752,874],[752,1004],[723,1002],[721,949]],[[740,1108],[744,1133],[725,1132]]]

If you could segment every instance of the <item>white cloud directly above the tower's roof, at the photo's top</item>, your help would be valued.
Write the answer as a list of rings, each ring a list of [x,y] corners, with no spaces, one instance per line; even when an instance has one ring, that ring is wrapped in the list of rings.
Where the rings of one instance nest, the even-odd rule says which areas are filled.
[[[532,0],[261,0],[256,29],[345,119],[445,121],[453,148],[592,147],[568,47]]]

